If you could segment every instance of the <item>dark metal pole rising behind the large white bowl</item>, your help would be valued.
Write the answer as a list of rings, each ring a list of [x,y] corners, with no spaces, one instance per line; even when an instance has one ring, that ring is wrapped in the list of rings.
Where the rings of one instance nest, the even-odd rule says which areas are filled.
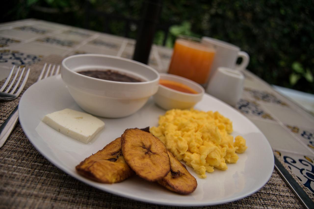
[[[161,0],[144,1],[144,13],[136,38],[133,60],[148,63],[160,11]]]

